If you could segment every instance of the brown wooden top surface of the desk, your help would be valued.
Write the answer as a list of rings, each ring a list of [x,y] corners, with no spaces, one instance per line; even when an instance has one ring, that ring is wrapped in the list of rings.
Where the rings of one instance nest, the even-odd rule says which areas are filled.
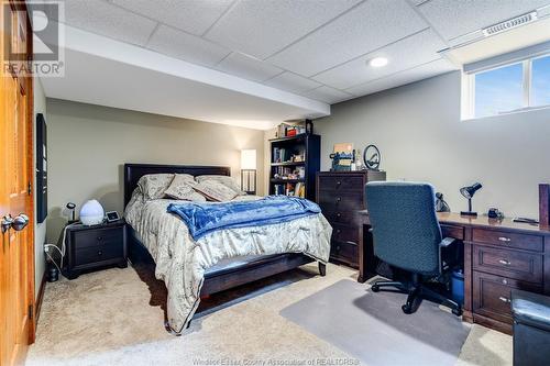
[[[369,217],[367,210],[359,211],[363,217]],[[532,233],[550,233],[550,228],[543,228],[540,225],[531,225],[522,222],[514,222],[512,219],[491,219],[485,215],[479,215],[477,218],[462,217],[460,213],[455,212],[438,212],[438,220],[442,224],[457,224],[466,226],[479,226],[479,228],[494,228],[494,229],[512,229]],[[367,220],[365,218],[365,220]],[[365,222],[365,220],[363,220]]]

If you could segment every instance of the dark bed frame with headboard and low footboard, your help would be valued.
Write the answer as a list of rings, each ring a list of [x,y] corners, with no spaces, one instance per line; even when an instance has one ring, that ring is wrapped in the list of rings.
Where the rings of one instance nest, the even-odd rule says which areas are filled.
[[[230,176],[231,168],[223,166],[124,164],[124,207],[130,201],[132,192],[142,176],[162,173],[190,174],[191,176]],[[147,249],[135,239],[133,233],[129,235],[129,254],[130,260],[133,263],[135,260],[143,259],[153,260]],[[311,262],[314,262],[314,259],[306,255],[286,253],[261,257],[233,268],[210,271],[205,275],[205,282],[202,285],[200,296],[206,297],[211,293],[270,277]],[[319,262],[319,271],[321,276],[326,275],[326,270],[324,264]]]

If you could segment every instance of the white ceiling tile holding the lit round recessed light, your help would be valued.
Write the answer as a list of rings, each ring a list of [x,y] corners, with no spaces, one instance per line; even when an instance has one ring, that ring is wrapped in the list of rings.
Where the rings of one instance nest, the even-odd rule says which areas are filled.
[[[440,56],[437,52],[443,48],[446,48],[446,44],[435,32],[428,29],[321,73],[314,79],[338,89],[348,89],[359,84],[438,59]],[[369,66],[369,60],[375,57],[386,57],[388,64],[380,68]]]

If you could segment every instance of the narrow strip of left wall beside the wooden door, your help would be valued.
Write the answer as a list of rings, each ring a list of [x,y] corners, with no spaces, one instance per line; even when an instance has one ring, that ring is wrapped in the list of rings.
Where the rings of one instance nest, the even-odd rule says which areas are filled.
[[[42,113],[46,117],[46,97],[44,96],[44,89],[38,78],[33,78],[33,91],[34,91],[34,118],[33,123],[36,122],[36,113]],[[47,123],[47,118],[46,118]],[[33,127],[33,166],[36,166],[36,125]],[[34,175],[34,203],[35,203],[35,214],[36,218],[36,175]],[[44,243],[46,241],[46,221],[42,223],[36,223],[34,219],[34,296],[38,295],[40,285],[42,282],[42,277],[44,276],[44,270],[46,267],[45,254],[44,254]]]

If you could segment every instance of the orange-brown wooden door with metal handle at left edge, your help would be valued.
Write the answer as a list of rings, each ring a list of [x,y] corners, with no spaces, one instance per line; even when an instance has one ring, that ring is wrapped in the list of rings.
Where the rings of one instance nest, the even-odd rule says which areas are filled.
[[[19,11],[16,11],[19,10]],[[32,54],[30,24],[21,8],[1,7],[2,42]],[[6,47],[1,45],[2,62]],[[29,218],[26,226],[6,226],[0,248],[0,365],[24,361],[34,341],[34,233],[32,192],[32,78],[2,65],[0,90],[0,220]],[[6,219],[3,219],[6,217]],[[19,230],[18,230],[19,229]]]

